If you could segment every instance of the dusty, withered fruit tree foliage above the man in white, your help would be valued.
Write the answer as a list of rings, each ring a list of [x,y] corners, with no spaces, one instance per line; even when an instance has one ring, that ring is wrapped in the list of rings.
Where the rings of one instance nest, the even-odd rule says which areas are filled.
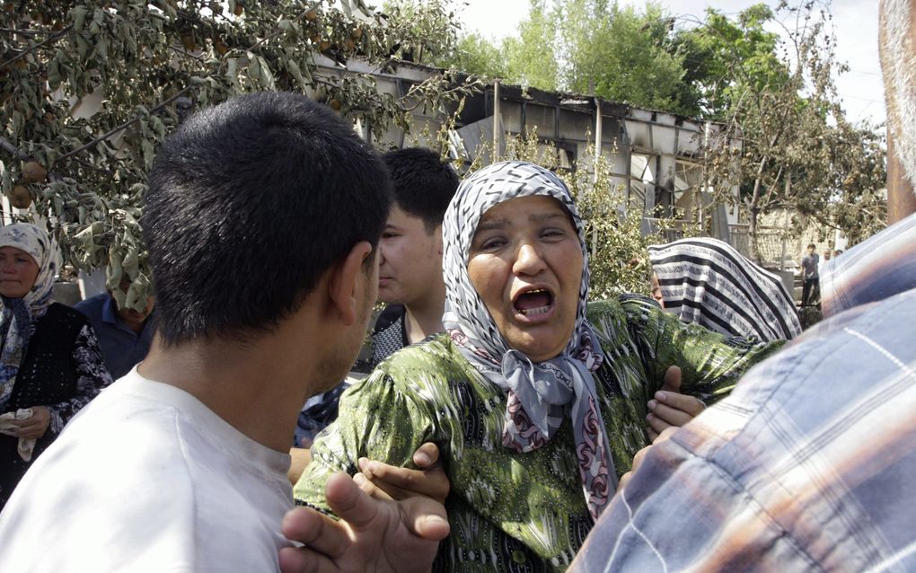
[[[259,90],[310,94],[376,135],[408,127],[409,110],[439,111],[464,89],[439,75],[396,98],[369,76],[322,72],[319,54],[386,67],[453,41],[453,28],[392,14],[293,0],[21,0],[0,8],[0,190],[46,220],[67,262],[149,287],[137,224],[162,140],[194,109]],[[397,3],[396,3],[397,4]],[[414,22],[441,23],[444,2]],[[102,105],[79,112],[93,94]],[[115,289],[115,293],[117,290]]]

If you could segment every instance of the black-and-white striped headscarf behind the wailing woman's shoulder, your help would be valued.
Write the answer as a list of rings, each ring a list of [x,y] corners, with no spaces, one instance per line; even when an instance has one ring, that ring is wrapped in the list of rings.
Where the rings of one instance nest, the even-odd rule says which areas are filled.
[[[780,277],[714,238],[684,238],[649,247],[665,310],[725,336],[769,342],[802,332]]]

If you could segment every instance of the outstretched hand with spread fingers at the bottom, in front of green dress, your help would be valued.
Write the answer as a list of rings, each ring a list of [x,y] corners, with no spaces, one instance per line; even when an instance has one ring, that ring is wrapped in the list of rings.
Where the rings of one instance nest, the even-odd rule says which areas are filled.
[[[328,479],[325,496],[339,522],[304,507],[283,518],[283,534],[305,544],[280,549],[283,573],[429,571],[449,534],[445,508],[427,497],[375,499],[343,472]]]

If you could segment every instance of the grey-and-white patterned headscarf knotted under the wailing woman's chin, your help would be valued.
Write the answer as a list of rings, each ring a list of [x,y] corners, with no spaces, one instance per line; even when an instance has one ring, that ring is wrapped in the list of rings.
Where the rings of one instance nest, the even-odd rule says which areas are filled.
[[[537,363],[508,347],[467,272],[471,242],[485,212],[496,204],[533,195],[556,199],[572,215],[583,254],[573,336],[559,356]],[[503,445],[519,452],[535,450],[569,416],[585,501],[597,519],[616,490],[616,473],[592,377],[604,354],[585,320],[588,252],[572,195],[555,174],[538,165],[495,163],[462,182],[445,212],[442,237],[446,290],[442,324],[463,357],[507,392]]]

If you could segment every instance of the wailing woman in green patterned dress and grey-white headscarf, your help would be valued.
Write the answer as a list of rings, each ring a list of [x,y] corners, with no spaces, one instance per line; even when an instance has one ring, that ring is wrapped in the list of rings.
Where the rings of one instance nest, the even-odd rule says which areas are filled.
[[[475,172],[443,221],[447,332],[344,393],[294,494],[361,458],[410,463],[424,441],[452,483],[437,570],[563,570],[649,442],[671,365],[704,402],[779,344],[684,325],[636,295],[586,303],[583,224],[563,182],[521,161]],[[677,532],[672,532],[676,535]]]

